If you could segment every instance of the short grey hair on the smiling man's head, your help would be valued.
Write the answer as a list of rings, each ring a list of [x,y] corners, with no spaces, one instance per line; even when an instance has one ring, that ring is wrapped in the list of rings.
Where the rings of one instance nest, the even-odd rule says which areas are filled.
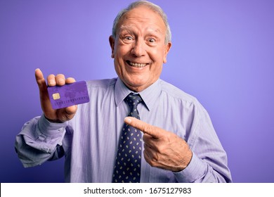
[[[164,21],[164,25],[166,25],[166,28],[167,28],[164,43],[167,44],[167,43],[171,42],[171,30],[170,30],[170,27],[169,27],[169,22],[167,21],[167,15],[164,13],[162,8],[160,8],[156,4],[152,4],[150,1],[135,1],[131,4],[129,4],[129,6],[127,8],[124,8],[122,11],[120,11],[117,14],[115,20],[113,21],[112,37],[114,37],[114,38],[116,37],[117,25],[119,23],[119,20],[122,18],[122,16],[125,13],[131,11],[133,8],[136,8],[136,7],[141,6],[141,5],[148,6],[148,8],[152,9],[152,11],[155,11],[156,13],[158,13],[162,17],[162,20]]]

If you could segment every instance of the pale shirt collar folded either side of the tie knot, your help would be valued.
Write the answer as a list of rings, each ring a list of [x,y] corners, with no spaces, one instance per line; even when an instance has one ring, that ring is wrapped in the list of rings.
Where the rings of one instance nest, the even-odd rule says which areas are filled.
[[[124,82],[122,82],[122,80],[120,80],[120,78],[118,77],[115,84],[116,106],[119,106],[119,104],[124,101],[124,98],[126,98],[126,96],[128,96],[131,92],[133,91],[127,88]],[[138,92],[138,94],[141,95],[143,102],[145,103],[145,106],[148,108],[148,110],[151,110],[155,103],[157,103],[157,98],[159,98],[160,93],[161,83],[159,79],[155,83],[151,84],[150,87]]]

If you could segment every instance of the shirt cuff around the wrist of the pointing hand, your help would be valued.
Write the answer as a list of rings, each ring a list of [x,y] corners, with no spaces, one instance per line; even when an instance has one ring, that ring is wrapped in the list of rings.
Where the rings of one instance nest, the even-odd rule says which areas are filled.
[[[185,167],[181,172],[174,172],[174,175],[178,182],[193,183],[203,177],[205,169],[207,169],[207,166],[193,153],[188,167]]]

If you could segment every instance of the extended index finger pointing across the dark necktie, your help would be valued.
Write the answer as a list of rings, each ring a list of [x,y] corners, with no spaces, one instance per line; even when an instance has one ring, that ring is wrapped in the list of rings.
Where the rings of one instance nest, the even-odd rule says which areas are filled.
[[[146,122],[138,120],[136,117],[125,117],[124,122],[131,127],[141,130],[144,134],[149,134],[155,139],[162,137],[164,134],[163,129],[149,125]]]

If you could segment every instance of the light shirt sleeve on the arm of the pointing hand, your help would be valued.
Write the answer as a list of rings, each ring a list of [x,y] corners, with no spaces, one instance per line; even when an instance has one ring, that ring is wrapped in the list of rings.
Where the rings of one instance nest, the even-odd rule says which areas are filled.
[[[178,182],[232,182],[228,159],[214,130],[210,117],[198,104],[188,144],[193,158],[188,167],[174,172]]]

